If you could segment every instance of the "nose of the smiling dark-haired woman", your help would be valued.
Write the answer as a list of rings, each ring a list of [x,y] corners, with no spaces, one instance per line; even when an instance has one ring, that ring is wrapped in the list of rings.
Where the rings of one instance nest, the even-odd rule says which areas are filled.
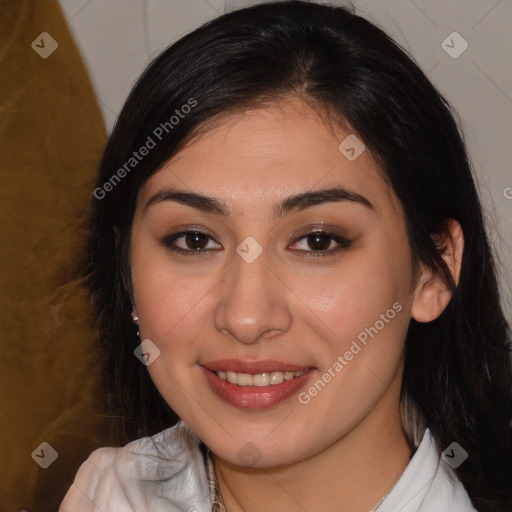
[[[222,283],[215,327],[244,344],[286,332],[292,322],[291,292],[269,266],[265,251],[251,263],[235,254],[233,264]]]

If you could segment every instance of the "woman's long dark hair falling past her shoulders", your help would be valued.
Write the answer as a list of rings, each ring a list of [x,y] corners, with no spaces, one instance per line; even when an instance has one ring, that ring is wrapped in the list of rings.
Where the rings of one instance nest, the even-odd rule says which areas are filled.
[[[220,16],[161,53],[128,97],[102,158],[81,274],[117,428],[127,441],[178,420],[133,355],[128,249],[138,190],[222,116],[291,94],[364,141],[403,206],[415,264],[453,292],[438,319],[411,320],[405,432],[417,443],[428,427],[440,451],[458,442],[469,457],[456,473],[475,506],[512,510],[510,327],[457,115],[406,51],[341,7],[280,2]],[[135,159],[148,137],[152,148]],[[457,286],[438,244],[447,219],[465,238]]]

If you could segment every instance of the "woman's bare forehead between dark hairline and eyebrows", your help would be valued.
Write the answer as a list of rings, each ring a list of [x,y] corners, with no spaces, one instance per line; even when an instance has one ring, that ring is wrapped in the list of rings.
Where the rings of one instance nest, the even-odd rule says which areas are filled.
[[[370,151],[354,137],[293,97],[227,116],[202,131],[139,195],[144,201],[162,188],[179,187],[234,206],[249,199],[262,206],[291,193],[343,186],[371,196],[376,206],[394,208],[396,200]],[[347,147],[354,151],[347,153]]]

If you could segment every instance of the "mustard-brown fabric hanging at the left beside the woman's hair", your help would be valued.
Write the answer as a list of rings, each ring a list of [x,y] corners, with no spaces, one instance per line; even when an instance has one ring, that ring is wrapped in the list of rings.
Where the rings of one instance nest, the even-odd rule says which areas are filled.
[[[58,48],[43,59],[32,42]],[[40,43],[41,46],[42,43]],[[89,298],[65,284],[106,133],[59,4],[0,2],[0,509],[55,511],[78,466],[115,444]],[[32,458],[42,442],[58,457]]]

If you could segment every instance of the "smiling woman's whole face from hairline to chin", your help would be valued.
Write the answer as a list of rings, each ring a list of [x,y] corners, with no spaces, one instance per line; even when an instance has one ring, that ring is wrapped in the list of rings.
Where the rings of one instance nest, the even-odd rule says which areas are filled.
[[[228,118],[140,190],[148,370],[232,464],[293,463],[398,414],[411,252],[369,151],[339,149],[349,135],[293,98]]]

